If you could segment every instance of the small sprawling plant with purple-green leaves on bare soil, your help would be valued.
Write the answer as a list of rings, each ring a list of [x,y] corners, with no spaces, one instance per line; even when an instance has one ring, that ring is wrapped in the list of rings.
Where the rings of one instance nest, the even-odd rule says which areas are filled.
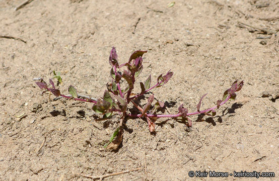
[[[135,51],[131,54],[129,60],[127,63],[123,63],[121,65],[118,64],[117,61],[117,54],[116,49],[112,47],[112,50],[110,52],[109,56],[109,64],[111,65],[110,70],[110,76],[111,76],[111,82],[107,83],[107,90],[104,93],[103,98],[99,98],[98,100],[94,99],[82,99],[79,97],[77,89],[70,85],[68,87],[68,92],[71,96],[66,96],[60,94],[59,89],[55,88],[54,83],[51,79],[49,79],[49,83],[51,84],[52,88],[48,87],[47,83],[41,79],[40,82],[36,82],[36,84],[43,89],[43,93],[49,92],[52,93],[56,97],[63,97],[66,99],[74,99],[77,101],[84,101],[84,102],[90,102],[94,103],[92,109],[98,113],[102,114],[103,118],[110,118],[112,114],[116,113],[119,114],[120,119],[120,125],[117,128],[117,130],[113,133],[113,136],[111,137],[109,141],[108,148],[111,149],[117,149],[120,143],[122,142],[122,133],[123,133],[123,124],[125,121],[125,118],[127,117],[141,117],[145,118],[148,123],[148,127],[150,132],[155,132],[155,124],[157,118],[178,118],[181,117],[182,120],[187,120],[187,125],[189,127],[192,126],[192,121],[189,119],[189,116],[191,115],[208,115],[208,116],[215,116],[216,115],[216,109],[219,109],[220,106],[224,105],[229,100],[234,100],[236,98],[236,92],[240,91],[240,89],[243,86],[243,81],[236,80],[233,82],[232,86],[225,91],[223,94],[223,99],[218,100],[216,102],[216,106],[205,109],[200,111],[200,105],[202,99],[206,96],[203,95],[197,106],[196,106],[196,112],[188,113],[188,110],[183,107],[183,104],[181,104],[178,108],[177,114],[157,114],[159,110],[163,109],[165,107],[165,104],[163,102],[157,101],[155,104],[152,104],[154,102],[154,95],[150,94],[147,104],[142,108],[140,105],[136,104],[135,100],[138,98],[143,98],[142,96],[146,93],[150,92],[155,87],[161,87],[165,83],[167,83],[170,78],[173,75],[173,72],[170,70],[165,74],[159,75],[157,78],[157,82],[155,85],[151,86],[151,75],[144,81],[140,82],[141,85],[141,93],[134,94],[132,93],[134,89],[134,83],[135,78],[141,74],[143,70],[143,58],[142,56],[147,51]],[[125,67],[123,71],[120,71],[120,68]],[[123,79],[126,81],[123,81]],[[126,87],[123,89],[121,85],[126,85]],[[135,114],[131,113],[128,109],[128,105],[132,104],[138,111],[141,112],[141,114]],[[115,138],[116,137],[116,138]],[[114,139],[115,138],[115,139]]]

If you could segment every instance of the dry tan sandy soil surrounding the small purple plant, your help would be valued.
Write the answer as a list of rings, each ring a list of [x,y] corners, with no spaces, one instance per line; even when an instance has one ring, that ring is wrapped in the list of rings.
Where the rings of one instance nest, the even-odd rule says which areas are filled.
[[[0,180],[90,180],[77,173],[125,170],[104,180],[186,180],[190,170],[273,171],[259,180],[279,179],[279,1],[34,0],[15,11],[22,2],[0,1]],[[172,69],[152,91],[171,114],[181,103],[195,111],[205,93],[201,107],[212,107],[234,80],[245,84],[217,116],[192,116],[192,128],[161,118],[154,135],[145,120],[128,119],[120,149],[104,150],[119,116],[97,121],[90,103],[49,101],[32,79],[55,70],[61,92],[72,84],[98,98],[110,81],[112,46],[120,63],[148,50],[139,80],[151,74],[154,84]]]

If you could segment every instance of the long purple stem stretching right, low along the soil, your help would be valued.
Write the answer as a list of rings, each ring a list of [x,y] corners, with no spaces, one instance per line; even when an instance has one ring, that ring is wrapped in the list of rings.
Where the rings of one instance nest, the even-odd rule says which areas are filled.
[[[220,106],[222,106],[223,104],[225,104],[229,99],[231,98],[231,96],[229,95],[225,101],[223,101]],[[193,113],[188,113],[187,116],[191,116],[191,115],[196,115],[196,114],[202,114],[202,113],[206,113],[208,111],[212,111],[214,109],[216,109],[217,106],[213,107],[213,108],[210,108],[210,109],[206,109],[206,110],[203,110],[203,111],[196,111],[196,112],[193,112]],[[130,117],[142,117],[142,114],[129,114],[128,116]],[[175,115],[153,115],[153,114],[147,114],[148,117],[156,117],[156,118],[177,118],[177,117],[180,117],[180,113],[179,114],[175,114]]]

